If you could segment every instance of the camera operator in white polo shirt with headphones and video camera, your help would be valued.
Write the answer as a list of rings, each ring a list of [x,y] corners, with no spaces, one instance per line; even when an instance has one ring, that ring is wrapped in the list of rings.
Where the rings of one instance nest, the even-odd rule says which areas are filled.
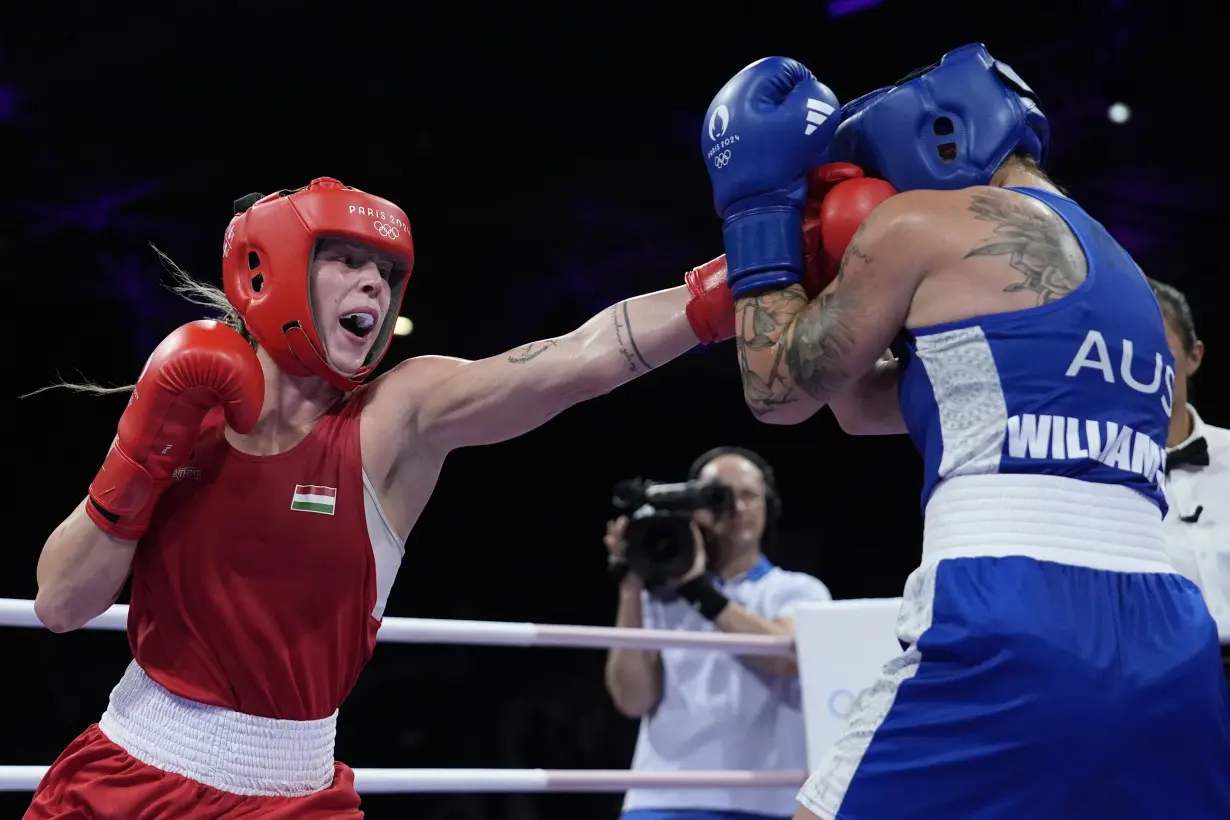
[[[608,524],[604,538],[622,575],[617,626],[790,636],[796,604],[830,600],[819,580],[780,569],[761,552],[781,502],[756,454],[710,450],[688,484],[625,494],[633,500],[622,505],[637,509]],[[613,649],[605,679],[615,707],[641,719],[635,771],[807,768],[793,658]],[[790,788],[631,789],[622,816],[753,820],[793,810]]]

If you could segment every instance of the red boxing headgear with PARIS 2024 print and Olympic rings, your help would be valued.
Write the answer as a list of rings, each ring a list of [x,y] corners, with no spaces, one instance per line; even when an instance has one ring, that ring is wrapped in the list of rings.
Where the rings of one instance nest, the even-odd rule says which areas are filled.
[[[293,376],[319,376],[354,390],[389,350],[406,283],[415,267],[410,220],[397,205],[337,179],[321,177],[299,191],[235,203],[223,241],[226,300],[273,360]],[[363,366],[352,375],[330,364],[311,307],[311,264],[321,240],[341,239],[396,261],[389,278],[389,313]]]

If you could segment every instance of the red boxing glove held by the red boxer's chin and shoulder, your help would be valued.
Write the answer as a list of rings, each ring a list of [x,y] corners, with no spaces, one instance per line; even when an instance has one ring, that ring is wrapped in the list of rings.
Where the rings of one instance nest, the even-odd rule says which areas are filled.
[[[117,538],[139,540],[171,475],[192,457],[205,413],[221,404],[228,423],[247,433],[263,402],[261,361],[242,336],[214,321],[172,332],[145,363],[90,484],[90,520]]]

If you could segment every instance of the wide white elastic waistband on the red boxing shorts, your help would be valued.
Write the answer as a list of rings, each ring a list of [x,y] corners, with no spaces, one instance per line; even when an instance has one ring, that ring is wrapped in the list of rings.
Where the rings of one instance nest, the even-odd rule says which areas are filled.
[[[172,695],[134,660],[98,728],[137,760],[231,794],[303,797],[333,782],[337,713],[278,720]]]

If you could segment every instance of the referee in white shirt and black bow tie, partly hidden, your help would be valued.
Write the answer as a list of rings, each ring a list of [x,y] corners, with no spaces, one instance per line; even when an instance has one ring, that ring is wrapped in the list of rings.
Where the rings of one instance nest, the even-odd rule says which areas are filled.
[[[1230,430],[1205,423],[1188,403],[1188,384],[1204,358],[1204,343],[1196,336],[1187,299],[1176,288],[1151,284],[1175,354],[1175,403],[1166,438],[1166,548],[1175,569],[1204,594],[1218,623],[1230,686]]]

